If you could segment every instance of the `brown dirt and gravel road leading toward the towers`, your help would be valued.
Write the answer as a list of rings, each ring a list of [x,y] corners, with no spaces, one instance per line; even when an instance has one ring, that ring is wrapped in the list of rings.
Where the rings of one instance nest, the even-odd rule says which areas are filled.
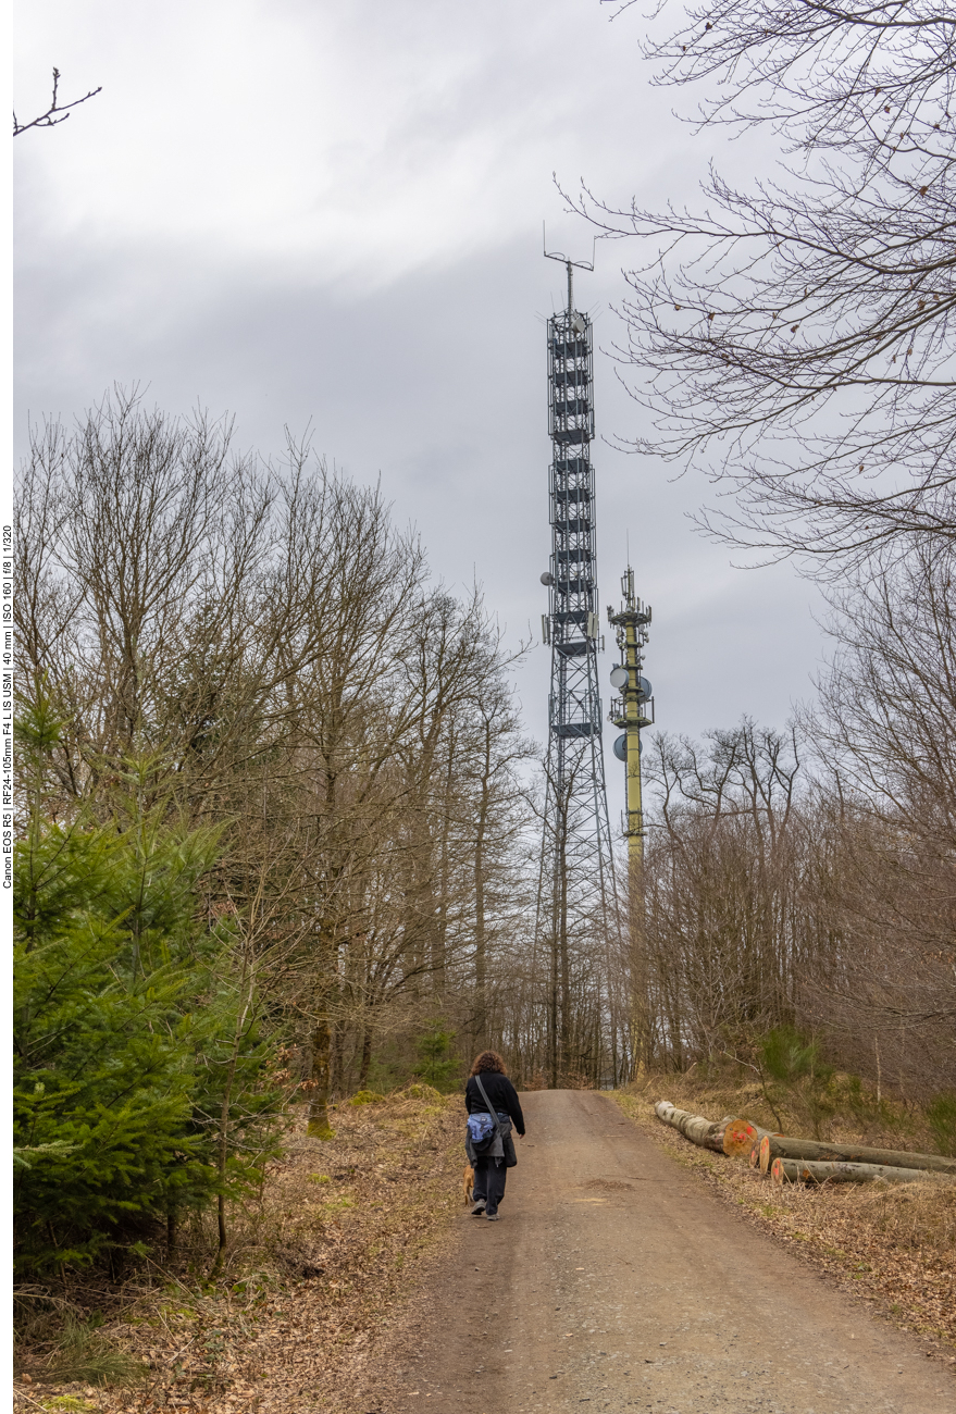
[[[362,1414],[956,1410],[945,1370],[738,1220],[605,1096],[522,1106],[502,1220],[462,1206],[460,1244],[389,1362],[396,1383]]]

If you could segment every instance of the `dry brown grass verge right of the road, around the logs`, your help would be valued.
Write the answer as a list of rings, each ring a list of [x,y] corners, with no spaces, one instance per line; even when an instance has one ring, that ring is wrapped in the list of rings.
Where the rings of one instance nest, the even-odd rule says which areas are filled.
[[[759,1090],[757,1092],[759,1096]],[[827,1273],[871,1309],[921,1336],[925,1348],[956,1365],[956,1185],[928,1175],[916,1184],[856,1184],[775,1188],[745,1164],[696,1148],[663,1126],[652,1096],[718,1118],[737,1114],[765,1124],[758,1103],[728,1082],[694,1093],[686,1077],[653,1077],[638,1093],[612,1099],[656,1144],[791,1250]],[[839,1137],[885,1143],[885,1130],[851,1133],[846,1117]],[[834,1135],[836,1137],[836,1135]],[[897,1131],[898,1138],[898,1131]],[[908,1145],[911,1150],[915,1144]]]

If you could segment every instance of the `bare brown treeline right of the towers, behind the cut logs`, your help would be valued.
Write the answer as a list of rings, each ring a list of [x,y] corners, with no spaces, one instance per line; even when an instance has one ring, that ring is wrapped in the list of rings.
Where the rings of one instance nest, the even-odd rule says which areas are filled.
[[[953,550],[844,590],[819,699],[645,754],[639,1053],[684,1069],[796,1027],[875,1086],[956,1089]]]

